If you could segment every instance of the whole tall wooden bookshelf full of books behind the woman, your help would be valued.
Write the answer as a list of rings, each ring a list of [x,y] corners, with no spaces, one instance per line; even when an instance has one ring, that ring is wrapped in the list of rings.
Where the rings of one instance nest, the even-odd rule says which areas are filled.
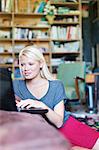
[[[63,61],[82,60],[82,16],[80,0],[50,0],[57,14],[46,19],[47,0],[0,1],[0,67],[10,67],[20,78],[18,54],[33,43],[43,52],[49,69],[57,72]]]

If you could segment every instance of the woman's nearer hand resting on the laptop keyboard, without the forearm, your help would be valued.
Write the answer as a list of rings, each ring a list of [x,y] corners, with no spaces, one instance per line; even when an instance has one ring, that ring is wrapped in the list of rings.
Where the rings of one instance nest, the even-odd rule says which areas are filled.
[[[26,99],[26,100],[21,100],[21,101],[17,101],[17,107],[20,107],[20,108],[26,108],[26,109],[29,109],[29,108],[44,108],[44,103],[42,103],[41,101],[38,101],[38,100],[32,100],[32,99]]]

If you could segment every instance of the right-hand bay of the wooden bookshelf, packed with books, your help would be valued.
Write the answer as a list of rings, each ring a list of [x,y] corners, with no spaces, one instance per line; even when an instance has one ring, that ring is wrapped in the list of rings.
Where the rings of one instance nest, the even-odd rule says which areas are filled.
[[[54,61],[56,59],[55,64],[59,59],[81,61],[83,55],[81,2],[51,0],[51,4],[58,11],[51,25],[52,59]],[[55,68],[54,64],[53,68]],[[57,65],[55,71],[57,72]]]

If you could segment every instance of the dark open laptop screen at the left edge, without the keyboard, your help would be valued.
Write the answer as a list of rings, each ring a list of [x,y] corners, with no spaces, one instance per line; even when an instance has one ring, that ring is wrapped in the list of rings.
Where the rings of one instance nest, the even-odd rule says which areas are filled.
[[[11,72],[0,68],[0,110],[17,111]]]

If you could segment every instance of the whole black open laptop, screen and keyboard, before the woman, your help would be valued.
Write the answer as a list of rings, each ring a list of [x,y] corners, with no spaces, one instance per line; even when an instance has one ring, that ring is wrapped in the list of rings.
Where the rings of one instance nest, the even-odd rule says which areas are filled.
[[[32,114],[45,114],[47,109],[31,108],[18,109],[15,102],[11,71],[8,68],[0,68],[0,110],[20,111]]]

